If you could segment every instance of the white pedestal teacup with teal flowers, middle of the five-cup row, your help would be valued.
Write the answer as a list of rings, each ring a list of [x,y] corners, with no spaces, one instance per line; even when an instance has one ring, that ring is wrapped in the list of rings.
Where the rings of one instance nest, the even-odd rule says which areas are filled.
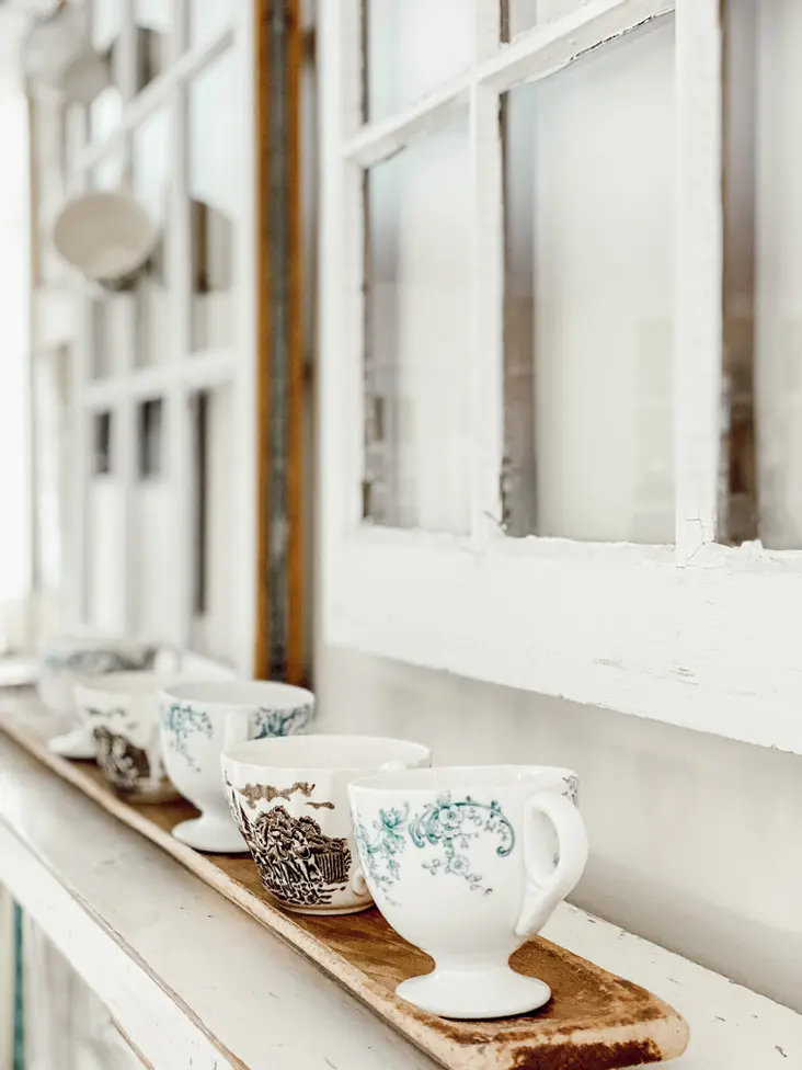
[[[270,680],[185,681],[162,691],[160,707],[168,776],[200,810],[173,835],[198,851],[247,852],[229,812],[220,755],[249,739],[302,731],[314,717],[314,695]]]

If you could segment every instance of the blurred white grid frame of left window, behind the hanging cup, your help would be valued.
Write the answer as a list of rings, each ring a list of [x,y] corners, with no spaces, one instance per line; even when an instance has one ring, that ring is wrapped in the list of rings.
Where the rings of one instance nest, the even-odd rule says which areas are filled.
[[[136,480],[136,406],[152,397],[163,399],[165,410],[164,466],[170,487],[169,555],[173,587],[169,592],[171,618],[165,639],[188,647],[193,636],[192,606],[192,470],[191,412],[188,399],[194,391],[230,386],[232,390],[231,434],[233,486],[231,515],[231,556],[238,567],[230,570],[231,638],[234,668],[250,674],[253,668],[256,577],[256,292],[255,292],[255,128],[248,118],[242,123],[245,145],[241,173],[236,175],[241,213],[234,227],[234,339],[226,349],[192,351],[192,265],[190,249],[190,194],[186,145],[188,134],[187,96],[192,80],[203,73],[224,54],[234,54],[242,72],[242,95],[238,100],[245,116],[254,114],[254,4],[241,0],[225,5],[228,24],[190,46],[190,0],[169,0],[171,8],[170,53],[164,70],[136,93],[133,68],[133,41],[136,33],[134,0],[121,0],[121,39],[127,43],[128,61],[121,64],[118,88],[123,95],[121,122],[106,136],[89,139],[85,116],[79,114],[79,141],[75,162],[68,174],[71,192],[85,190],[92,169],[110,152],[122,151],[124,170],[129,163],[129,138],[149,116],[168,110],[171,119],[169,151],[170,217],[168,255],[169,291],[179,303],[171,323],[172,360],[152,366],[136,366],[134,331],[126,332],[123,367],[104,378],[91,378],[92,295],[85,284],[77,282],[79,316],[73,363],[73,396],[79,407],[75,497],[71,516],[73,547],[72,584],[69,601],[75,615],[84,624],[88,604],[88,556],[91,553],[85,531],[91,479],[91,425],[99,411],[113,409],[115,428],[115,475],[123,490],[125,512],[123,528],[126,546],[125,578],[122,584],[121,621],[130,631],[134,592],[138,583],[134,530]],[[187,47],[184,48],[184,43]],[[106,43],[108,44],[108,43]],[[133,306],[130,308],[133,315]]]

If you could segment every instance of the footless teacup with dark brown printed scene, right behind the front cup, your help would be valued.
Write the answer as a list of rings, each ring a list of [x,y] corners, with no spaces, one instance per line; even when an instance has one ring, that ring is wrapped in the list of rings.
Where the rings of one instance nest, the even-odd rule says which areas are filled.
[[[371,736],[259,739],[226,751],[231,813],[267,891],[302,914],[351,914],[369,907],[347,785],[380,769],[431,761],[421,743]]]

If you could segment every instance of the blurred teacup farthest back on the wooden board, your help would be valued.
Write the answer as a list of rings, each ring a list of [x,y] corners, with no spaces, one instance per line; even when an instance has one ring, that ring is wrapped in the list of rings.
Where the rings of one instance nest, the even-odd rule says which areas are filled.
[[[124,636],[61,635],[39,645],[38,695],[57,714],[75,717],[75,685],[80,679],[110,672],[150,669],[159,647]],[[94,758],[95,743],[85,724],[49,742],[65,758]]]

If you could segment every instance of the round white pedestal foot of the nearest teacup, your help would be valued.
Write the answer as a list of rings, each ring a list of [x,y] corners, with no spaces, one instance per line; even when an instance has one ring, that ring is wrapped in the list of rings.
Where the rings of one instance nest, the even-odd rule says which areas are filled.
[[[535,977],[508,966],[474,970],[435,969],[411,977],[396,993],[422,1011],[444,1018],[502,1018],[537,1011],[551,999],[551,989]]]

